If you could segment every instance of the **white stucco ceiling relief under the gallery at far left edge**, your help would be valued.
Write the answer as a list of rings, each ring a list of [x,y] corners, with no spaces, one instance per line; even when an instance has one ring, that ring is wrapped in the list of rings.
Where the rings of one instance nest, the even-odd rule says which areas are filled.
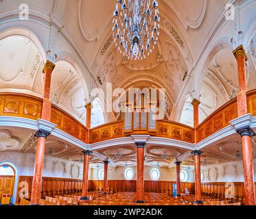
[[[17,149],[19,146],[19,139],[12,137],[7,130],[0,130],[0,151],[8,151]]]

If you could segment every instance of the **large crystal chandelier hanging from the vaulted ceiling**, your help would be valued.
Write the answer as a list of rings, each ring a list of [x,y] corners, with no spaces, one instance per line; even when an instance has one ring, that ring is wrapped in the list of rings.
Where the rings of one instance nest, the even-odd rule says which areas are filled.
[[[113,37],[118,51],[128,60],[142,60],[152,53],[159,40],[158,5],[156,0],[117,0]]]

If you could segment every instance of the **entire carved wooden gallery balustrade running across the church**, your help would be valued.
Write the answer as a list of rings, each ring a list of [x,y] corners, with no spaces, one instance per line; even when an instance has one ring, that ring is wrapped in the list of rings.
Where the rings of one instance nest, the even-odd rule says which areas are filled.
[[[256,116],[256,90],[247,92],[247,101],[248,112]],[[42,104],[43,100],[35,96],[1,93],[0,116],[18,116],[37,120],[42,112]],[[220,129],[230,125],[229,122],[235,118],[237,118],[237,103],[236,99],[232,99],[196,127],[196,139],[194,139],[194,128],[167,120],[156,120],[156,130],[143,128],[127,132],[124,128],[124,121],[121,120],[95,127],[89,131],[82,123],[67,114],[67,112],[60,110],[60,108],[54,105],[51,107],[51,123],[56,124],[58,129],[90,144],[137,133],[171,138],[189,143],[200,142],[216,131],[220,131]]]

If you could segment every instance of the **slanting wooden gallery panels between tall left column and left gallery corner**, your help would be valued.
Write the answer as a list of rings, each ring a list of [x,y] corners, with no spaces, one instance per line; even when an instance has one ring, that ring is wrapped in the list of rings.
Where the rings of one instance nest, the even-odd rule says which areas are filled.
[[[51,123],[56,124],[58,129],[82,140],[82,142],[88,143],[88,129],[56,106],[51,107]]]

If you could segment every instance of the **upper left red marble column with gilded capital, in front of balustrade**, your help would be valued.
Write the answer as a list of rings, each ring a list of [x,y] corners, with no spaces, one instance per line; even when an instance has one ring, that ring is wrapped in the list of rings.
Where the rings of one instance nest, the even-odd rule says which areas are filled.
[[[43,109],[41,118],[49,121],[51,119],[51,101],[49,100],[51,88],[51,73],[55,68],[55,64],[47,61],[43,70],[45,73],[44,88],[43,88]]]

